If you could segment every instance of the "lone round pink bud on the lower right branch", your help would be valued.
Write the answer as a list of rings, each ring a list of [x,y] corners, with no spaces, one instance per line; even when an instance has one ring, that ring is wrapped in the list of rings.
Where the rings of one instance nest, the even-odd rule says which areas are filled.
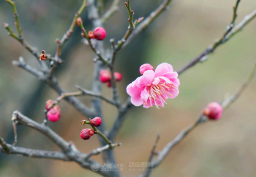
[[[222,107],[219,103],[212,102],[207,105],[206,108],[202,111],[204,115],[206,115],[209,119],[217,120],[221,118],[222,115]]]

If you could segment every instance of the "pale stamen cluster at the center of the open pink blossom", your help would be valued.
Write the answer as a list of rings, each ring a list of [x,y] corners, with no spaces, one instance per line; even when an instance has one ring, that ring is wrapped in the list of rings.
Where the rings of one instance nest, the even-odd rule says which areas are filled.
[[[158,106],[163,106],[166,100],[173,96],[173,94],[170,93],[171,90],[175,91],[174,84],[172,82],[166,83],[164,80],[160,81],[157,85],[152,84],[148,86],[148,99],[150,100],[151,107],[153,107],[153,102],[158,109]],[[144,104],[147,104],[147,102]]]

